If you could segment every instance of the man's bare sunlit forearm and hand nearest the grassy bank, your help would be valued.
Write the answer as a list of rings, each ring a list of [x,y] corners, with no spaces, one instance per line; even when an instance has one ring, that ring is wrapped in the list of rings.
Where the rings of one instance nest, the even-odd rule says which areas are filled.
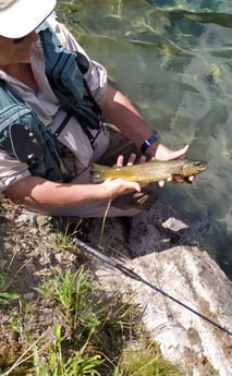
[[[133,191],[139,191],[137,183],[120,179],[101,184],[68,184],[29,175],[12,184],[3,193],[19,205],[42,208],[111,199]]]

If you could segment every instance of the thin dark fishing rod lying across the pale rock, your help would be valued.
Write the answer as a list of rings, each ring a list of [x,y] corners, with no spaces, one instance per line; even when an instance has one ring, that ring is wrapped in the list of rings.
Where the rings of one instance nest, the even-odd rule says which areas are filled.
[[[138,274],[136,274],[135,271],[133,271],[132,269],[125,267],[123,264],[120,264],[118,262],[115,262],[114,259],[112,259],[111,257],[102,254],[101,252],[98,252],[97,250],[95,250],[93,246],[84,243],[83,241],[78,240],[77,238],[75,238],[74,243],[78,246],[81,246],[81,248],[83,248],[84,251],[86,251],[87,253],[96,256],[98,259],[100,259],[101,262],[110,265],[111,267],[118,269],[119,271],[121,271],[122,274],[124,274],[125,276],[135,279],[136,281],[139,281],[146,286],[148,286],[149,288],[151,288],[152,290],[156,290],[157,292],[161,293],[162,295],[164,295],[166,298],[172,300],[173,302],[175,302],[176,304],[181,305],[182,307],[184,307],[185,310],[192,312],[194,315],[197,315],[198,317],[203,318],[205,322],[209,323],[210,325],[215,326],[216,328],[218,328],[219,330],[225,332],[229,336],[232,336],[232,331],[228,330],[227,328],[222,327],[221,325],[217,324],[216,322],[211,320],[210,318],[202,315],[199,312],[195,311],[194,308],[192,308],[191,306],[186,305],[185,303],[181,302],[180,300],[175,299],[174,296],[168,294],[167,292],[164,292],[163,290],[159,289],[158,287],[156,287],[155,284],[146,281],[143,277],[141,277]]]

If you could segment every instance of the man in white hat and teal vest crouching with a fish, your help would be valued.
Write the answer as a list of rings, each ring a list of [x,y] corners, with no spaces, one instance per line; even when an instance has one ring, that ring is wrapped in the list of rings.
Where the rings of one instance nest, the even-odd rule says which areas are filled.
[[[121,179],[94,184],[89,179],[91,162],[111,166],[115,161],[122,165],[124,160],[134,163],[136,157],[141,162],[146,158],[175,159],[184,156],[188,146],[173,151],[152,135],[130,100],[107,82],[105,68],[91,61],[68,29],[58,23],[52,13],[54,7],[56,0],[0,0],[0,190],[14,203],[49,215],[100,217],[105,215],[109,202],[110,216],[131,216],[141,209],[148,209],[157,198],[157,184],[150,184],[145,191],[138,183]],[[52,45],[51,40],[56,38],[65,52],[60,52],[62,49],[56,43]],[[68,54],[63,54],[66,51]],[[73,59],[69,51],[77,51],[77,59],[82,60],[76,85],[70,68],[66,68]],[[58,61],[68,57],[65,64],[62,62],[68,78],[58,78],[52,65],[54,59],[52,57],[49,61],[49,53],[58,56]],[[47,63],[52,65],[50,73],[46,71]],[[62,76],[62,70],[59,74]],[[69,100],[65,105],[64,101],[70,98],[71,90],[78,90],[78,85],[84,87],[84,94],[80,95],[81,105],[76,114],[77,106],[74,104],[74,110],[70,110]],[[29,121],[22,118],[19,109],[16,118],[12,112],[12,118],[5,116],[9,108],[14,107],[14,101],[19,105],[21,100],[22,111],[26,109],[30,118],[38,118],[35,121],[39,122],[41,138],[52,138],[49,142],[42,138],[40,144],[46,145],[45,150],[39,150],[39,147],[35,153],[33,150],[33,143],[39,145],[40,142],[34,137],[34,120],[27,124]],[[19,106],[21,108],[21,104]],[[90,118],[86,118],[85,113],[88,106]],[[107,128],[100,121],[96,128],[88,125],[88,121],[89,124],[91,122],[89,119],[93,117],[96,120],[101,112],[117,128]],[[51,144],[53,149],[49,150],[47,145]],[[27,149],[29,151],[25,156]],[[45,157],[47,151],[50,157]],[[38,153],[47,160],[41,162],[39,159],[38,162]],[[61,175],[64,166],[69,178],[50,174],[56,158]],[[47,162],[52,167],[44,168],[42,163]],[[180,177],[174,180],[182,182]]]

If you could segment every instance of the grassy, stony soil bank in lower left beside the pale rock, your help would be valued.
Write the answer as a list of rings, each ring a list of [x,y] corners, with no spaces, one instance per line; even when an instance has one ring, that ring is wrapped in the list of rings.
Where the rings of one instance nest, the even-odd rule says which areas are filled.
[[[72,254],[69,231],[8,205],[0,217],[1,376],[181,375],[145,332],[133,295],[107,293],[81,250]]]

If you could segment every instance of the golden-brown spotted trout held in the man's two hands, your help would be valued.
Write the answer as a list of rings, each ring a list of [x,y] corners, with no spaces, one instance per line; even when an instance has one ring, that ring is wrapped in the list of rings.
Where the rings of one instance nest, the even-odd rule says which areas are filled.
[[[91,166],[94,182],[102,182],[106,179],[123,179],[146,185],[150,182],[167,180],[173,175],[187,178],[200,173],[207,169],[206,161],[175,159],[175,160],[149,160],[145,163],[133,166],[107,167],[97,163]]]

